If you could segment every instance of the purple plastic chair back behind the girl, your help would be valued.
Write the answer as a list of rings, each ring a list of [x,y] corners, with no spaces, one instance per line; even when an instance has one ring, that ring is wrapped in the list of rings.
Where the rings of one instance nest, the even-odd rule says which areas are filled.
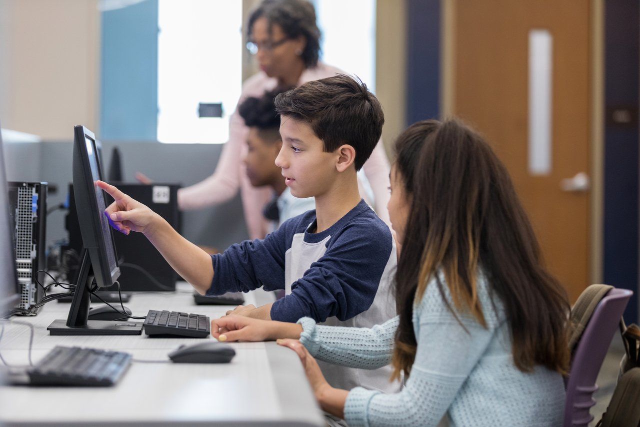
[[[573,353],[566,380],[564,427],[587,427],[593,420],[589,409],[595,405],[591,395],[598,389],[596,378],[632,294],[627,289],[611,289],[593,311]]]

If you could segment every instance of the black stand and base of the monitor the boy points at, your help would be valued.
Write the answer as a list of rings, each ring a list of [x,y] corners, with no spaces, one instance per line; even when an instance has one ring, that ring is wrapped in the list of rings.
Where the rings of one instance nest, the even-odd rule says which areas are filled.
[[[47,330],[50,335],[140,335],[141,322],[90,321],[90,289],[93,284],[93,268],[89,251],[83,249],[76,290],[71,301],[67,321],[54,320]]]

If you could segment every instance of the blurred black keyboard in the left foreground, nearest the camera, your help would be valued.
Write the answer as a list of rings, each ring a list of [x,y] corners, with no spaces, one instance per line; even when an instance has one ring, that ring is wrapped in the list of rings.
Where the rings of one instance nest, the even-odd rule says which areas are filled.
[[[27,370],[29,385],[114,385],[131,365],[121,351],[56,346]]]

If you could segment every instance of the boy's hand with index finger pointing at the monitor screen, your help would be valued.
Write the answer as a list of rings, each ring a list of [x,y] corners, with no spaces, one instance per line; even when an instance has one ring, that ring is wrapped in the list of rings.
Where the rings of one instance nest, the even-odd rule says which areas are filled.
[[[157,213],[113,185],[104,181],[96,181],[96,185],[114,199],[114,202],[104,211],[104,215],[115,230],[123,234],[129,234],[131,231],[146,234],[152,231]]]

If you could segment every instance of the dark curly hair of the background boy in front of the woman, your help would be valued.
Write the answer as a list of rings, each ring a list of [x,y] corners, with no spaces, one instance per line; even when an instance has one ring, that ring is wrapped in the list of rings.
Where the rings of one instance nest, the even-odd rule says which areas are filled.
[[[257,128],[266,142],[280,140],[280,115],[273,103],[284,89],[264,92],[261,97],[248,97],[238,106],[238,113],[248,128]]]

